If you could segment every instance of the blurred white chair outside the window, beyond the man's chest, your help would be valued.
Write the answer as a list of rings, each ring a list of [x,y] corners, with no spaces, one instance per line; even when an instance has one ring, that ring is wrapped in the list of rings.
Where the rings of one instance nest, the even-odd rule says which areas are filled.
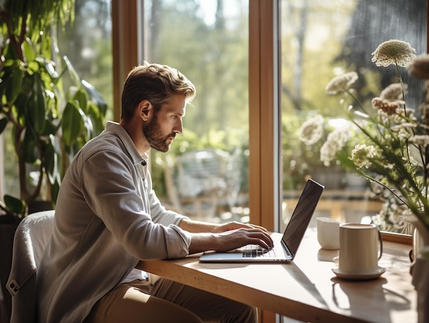
[[[167,208],[206,219],[218,211],[232,207],[238,201],[241,188],[241,150],[233,154],[221,149],[199,149],[177,156],[177,162],[167,156],[164,180]],[[219,209],[221,208],[221,210]]]

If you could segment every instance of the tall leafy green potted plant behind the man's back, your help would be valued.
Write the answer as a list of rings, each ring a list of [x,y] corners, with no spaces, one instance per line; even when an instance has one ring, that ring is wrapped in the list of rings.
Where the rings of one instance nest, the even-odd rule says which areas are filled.
[[[55,27],[73,21],[74,8],[75,0],[0,1],[0,134],[12,130],[20,191],[0,201],[0,226],[12,230],[0,228],[5,239],[39,211],[34,204],[54,208],[73,154],[103,130],[106,102],[60,56],[53,36]],[[10,271],[9,243],[0,244],[2,282]]]

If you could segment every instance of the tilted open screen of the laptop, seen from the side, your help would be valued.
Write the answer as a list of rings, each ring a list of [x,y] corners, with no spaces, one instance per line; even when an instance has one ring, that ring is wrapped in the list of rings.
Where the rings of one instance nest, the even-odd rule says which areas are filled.
[[[284,230],[282,242],[288,247],[293,256],[295,256],[302,237],[304,237],[304,232],[315,211],[317,202],[319,202],[323,188],[321,184],[314,180],[310,179],[307,181],[304,191],[302,191],[297,206],[289,220],[289,224],[286,230]]]

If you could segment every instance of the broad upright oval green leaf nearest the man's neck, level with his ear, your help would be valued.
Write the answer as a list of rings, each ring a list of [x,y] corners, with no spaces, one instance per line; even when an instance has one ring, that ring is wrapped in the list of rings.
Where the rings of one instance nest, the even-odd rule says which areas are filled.
[[[69,101],[62,114],[62,140],[68,146],[73,145],[82,131],[82,115],[73,102]]]

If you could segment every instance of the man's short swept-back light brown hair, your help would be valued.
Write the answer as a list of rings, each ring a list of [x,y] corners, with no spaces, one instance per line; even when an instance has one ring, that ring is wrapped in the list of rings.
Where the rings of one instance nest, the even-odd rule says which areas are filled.
[[[121,119],[130,121],[143,100],[154,106],[155,112],[169,103],[173,95],[184,95],[186,103],[195,97],[195,86],[185,75],[167,65],[143,62],[128,73],[123,86]]]

